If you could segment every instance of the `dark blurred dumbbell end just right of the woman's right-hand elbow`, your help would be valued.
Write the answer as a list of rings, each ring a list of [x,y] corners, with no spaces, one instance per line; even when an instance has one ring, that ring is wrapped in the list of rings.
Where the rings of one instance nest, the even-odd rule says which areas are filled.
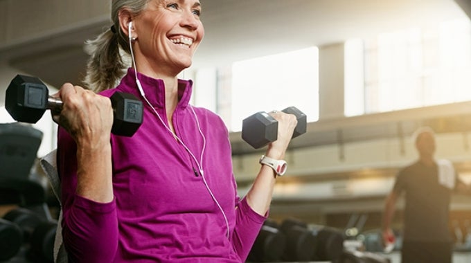
[[[286,237],[276,223],[267,220],[258,233],[247,257],[250,262],[280,262],[285,251]]]

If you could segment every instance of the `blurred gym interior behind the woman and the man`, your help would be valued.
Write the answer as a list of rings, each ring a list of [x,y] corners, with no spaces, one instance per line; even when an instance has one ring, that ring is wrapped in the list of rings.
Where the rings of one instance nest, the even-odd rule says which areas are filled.
[[[388,251],[380,229],[396,174],[418,158],[414,131],[434,129],[436,158],[471,183],[470,1],[202,6],[206,35],[181,78],[195,80],[193,105],[231,131],[240,196],[265,149],[242,138],[242,121],[292,106],[307,116],[247,262],[399,263],[403,198]],[[57,127],[48,112],[15,121],[6,90],[18,74],[50,93],[80,84],[84,42],[111,25],[109,3],[0,0],[0,14],[0,262],[53,262],[60,203],[40,160],[55,149]],[[471,262],[471,196],[453,194],[449,221],[453,262]]]

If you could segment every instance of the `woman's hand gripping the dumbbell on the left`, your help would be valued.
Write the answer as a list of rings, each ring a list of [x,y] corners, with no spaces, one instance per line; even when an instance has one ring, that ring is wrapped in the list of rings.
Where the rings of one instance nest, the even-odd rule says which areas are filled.
[[[63,102],[62,110],[51,111],[53,120],[69,132],[75,143],[89,147],[109,143],[113,125],[109,98],[70,83],[63,84],[53,97]]]

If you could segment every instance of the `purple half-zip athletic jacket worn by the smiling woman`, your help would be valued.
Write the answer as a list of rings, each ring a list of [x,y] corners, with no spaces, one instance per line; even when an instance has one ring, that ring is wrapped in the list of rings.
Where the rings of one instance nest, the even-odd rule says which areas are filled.
[[[146,97],[166,122],[163,82],[138,75]],[[102,95],[109,97],[115,91],[141,98],[133,69],[118,87]],[[59,129],[62,235],[73,262],[245,261],[266,215],[258,215],[245,199],[239,199],[229,133],[217,115],[193,107],[204,137],[200,134],[189,105],[191,91],[191,81],[179,80],[173,125],[195,158],[144,101],[143,124],[136,134],[112,135],[114,201],[110,203],[75,194],[76,145]],[[204,178],[197,172],[197,163],[201,163]],[[204,179],[229,222],[229,237],[224,215]]]

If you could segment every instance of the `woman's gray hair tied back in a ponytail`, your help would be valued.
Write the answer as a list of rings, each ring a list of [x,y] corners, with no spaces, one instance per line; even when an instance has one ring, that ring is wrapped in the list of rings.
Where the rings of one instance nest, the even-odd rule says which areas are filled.
[[[90,55],[84,84],[95,92],[116,87],[131,65],[130,44],[121,30],[119,12],[123,8],[134,15],[139,14],[150,0],[113,0],[111,19],[113,27],[85,42],[85,51]]]

